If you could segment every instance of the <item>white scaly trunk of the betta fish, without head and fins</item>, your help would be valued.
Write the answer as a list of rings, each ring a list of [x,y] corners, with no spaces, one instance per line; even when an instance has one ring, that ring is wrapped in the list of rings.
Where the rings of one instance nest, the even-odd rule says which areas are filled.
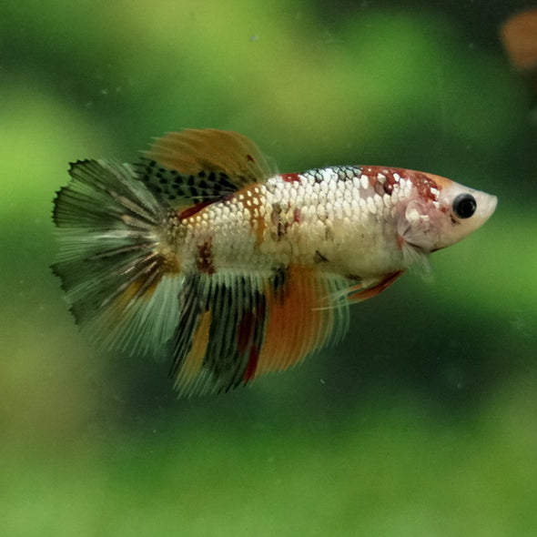
[[[353,278],[400,269],[398,207],[411,192],[409,179],[385,167],[270,177],[184,220],[183,266],[269,271],[299,263]]]

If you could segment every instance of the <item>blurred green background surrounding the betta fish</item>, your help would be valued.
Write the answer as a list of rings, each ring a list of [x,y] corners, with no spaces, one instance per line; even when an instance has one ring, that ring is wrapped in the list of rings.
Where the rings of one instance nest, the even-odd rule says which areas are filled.
[[[537,534],[537,140],[498,38],[522,5],[4,0],[1,535]],[[354,308],[337,348],[177,400],[166,362],[91,349],[48,266],[67,162],[182,127],[499,207],[432,283]]]

